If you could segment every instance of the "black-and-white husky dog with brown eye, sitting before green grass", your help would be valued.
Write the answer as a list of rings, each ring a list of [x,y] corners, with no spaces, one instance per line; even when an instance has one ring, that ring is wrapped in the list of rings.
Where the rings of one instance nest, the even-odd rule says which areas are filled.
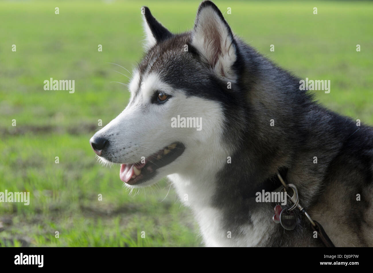
[[[147,53],[131,99],[90,140],[103,162],[121,164],[125,185],[167,176],[206,246],[323,246],[303,214],[285,230],[272,220],[274,203],[256,202],[285,170],[336,246],[373,246],[373,129],[315,103],[298,78],[234,35],[211,1],[182,34],[142,10]]]

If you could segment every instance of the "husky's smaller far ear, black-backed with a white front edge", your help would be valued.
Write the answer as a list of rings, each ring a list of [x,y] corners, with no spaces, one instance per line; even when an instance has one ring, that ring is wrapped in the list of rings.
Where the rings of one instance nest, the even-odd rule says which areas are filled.
[[[151,48],[157,43],[172,37],[169,32],[156,18],[151,15],[148,7],[142,7],[141,13],[144,15],[144,30],[146,35],[146,48]]]

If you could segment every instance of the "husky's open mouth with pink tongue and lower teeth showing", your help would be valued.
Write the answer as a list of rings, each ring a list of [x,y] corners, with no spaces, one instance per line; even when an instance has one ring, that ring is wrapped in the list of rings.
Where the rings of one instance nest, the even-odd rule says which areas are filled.
[[[179,142],[173,143],[152,154],[148,158],[133,164],[120,165],[120,180],[135,185],[138,182],[145,182],[151,179],[156,170],[166,166],[178,158],[185,150],[185,146]]]

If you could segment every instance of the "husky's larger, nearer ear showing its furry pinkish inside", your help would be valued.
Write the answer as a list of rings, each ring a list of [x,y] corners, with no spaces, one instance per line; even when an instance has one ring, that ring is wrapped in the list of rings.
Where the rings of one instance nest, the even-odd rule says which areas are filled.
[[[237,59],[237,44],[222,13],[211,1],[202,2],[198,8],[191,45],[217,76],[235,78],[232,66]]]

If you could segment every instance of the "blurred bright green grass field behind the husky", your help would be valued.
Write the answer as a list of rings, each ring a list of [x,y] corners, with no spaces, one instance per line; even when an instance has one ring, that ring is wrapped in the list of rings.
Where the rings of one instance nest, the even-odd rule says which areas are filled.
[[[88,143],[98,119],[106,125],[128,102],[126,87],[114,83],[128,83],[120,74],[128,73],[109,63],[131,70],[140,60],[141,5],[179,32],[192,28],[198,4],[0,2],[0,191],[31,198],[28,206],[0,203],[1,246],[203,245],[169,183],[129,195],[119,167],[98,164]],[[231,7],[225,18],[232,30],[278,65],[301,79],[330,79],[330,93],[317,92],[322,104],[373,124],[372,2],[216,4],[222,12]],[[75,79],[75,93],[44,91],[51,77]]]

